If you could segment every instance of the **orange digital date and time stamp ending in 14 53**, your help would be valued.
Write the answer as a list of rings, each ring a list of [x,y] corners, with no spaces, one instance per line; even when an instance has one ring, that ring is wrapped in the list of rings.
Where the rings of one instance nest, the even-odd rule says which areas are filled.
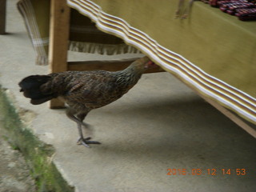
[[[246,169],[167,169],[167,175],[246,175]]]

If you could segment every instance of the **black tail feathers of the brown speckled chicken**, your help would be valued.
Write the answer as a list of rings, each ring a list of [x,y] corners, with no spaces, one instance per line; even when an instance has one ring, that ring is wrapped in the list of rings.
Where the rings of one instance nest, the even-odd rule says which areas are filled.
[[[50,81],[51,77],[48,75],[31,75],[23,78],[18,85],[21,87],[26,98],[31,98],[30,102],[33,105],[39,105],[43,102],[47,102],[54,97],[53,93],[42,93],[40,87],[46,82]]]

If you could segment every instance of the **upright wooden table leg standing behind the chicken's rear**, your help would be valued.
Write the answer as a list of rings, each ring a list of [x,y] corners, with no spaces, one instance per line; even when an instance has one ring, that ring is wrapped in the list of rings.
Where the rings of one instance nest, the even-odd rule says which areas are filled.
[[[70,7],[65,0],[50,2],[50,73],[67,70],[67,50],[70,33]],[[62,108],[63,103],[58,99],[50,101],[50,108]]]

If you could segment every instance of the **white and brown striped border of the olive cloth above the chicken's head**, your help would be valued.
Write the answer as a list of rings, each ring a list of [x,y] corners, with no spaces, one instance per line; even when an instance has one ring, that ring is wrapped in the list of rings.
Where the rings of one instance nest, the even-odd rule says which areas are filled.
[[[256,100],[250,94],[206,73],[195,63],[162,46],[157,38],[152,38],[145,31],[131,26],[123,18],[108,14],[96,3],[98,1],[68,0],[67,2],[69,6],[91,18],[98,29],[108,34],[114,34],[122,38],[127,44],[142,50],[163,69],[180,78],[182,82],[194,90],[256,124]],[[252,89],[256,89],[255,87]]]

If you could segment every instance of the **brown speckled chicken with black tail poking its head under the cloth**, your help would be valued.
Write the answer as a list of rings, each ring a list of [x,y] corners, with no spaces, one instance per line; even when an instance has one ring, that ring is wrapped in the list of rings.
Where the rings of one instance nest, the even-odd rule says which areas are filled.
[[[66,115],[78,125],[78,144],[100,144],[84,138],[83,120],[90,110],[106,106],[126,94],[141,78],[142,73],[156,66],[150,58],[139,58],[125,70],[66,71],[48,75],[31,75],[18,85],[33,105],[39,105],[52,98],[59,98],[66,104]]]

